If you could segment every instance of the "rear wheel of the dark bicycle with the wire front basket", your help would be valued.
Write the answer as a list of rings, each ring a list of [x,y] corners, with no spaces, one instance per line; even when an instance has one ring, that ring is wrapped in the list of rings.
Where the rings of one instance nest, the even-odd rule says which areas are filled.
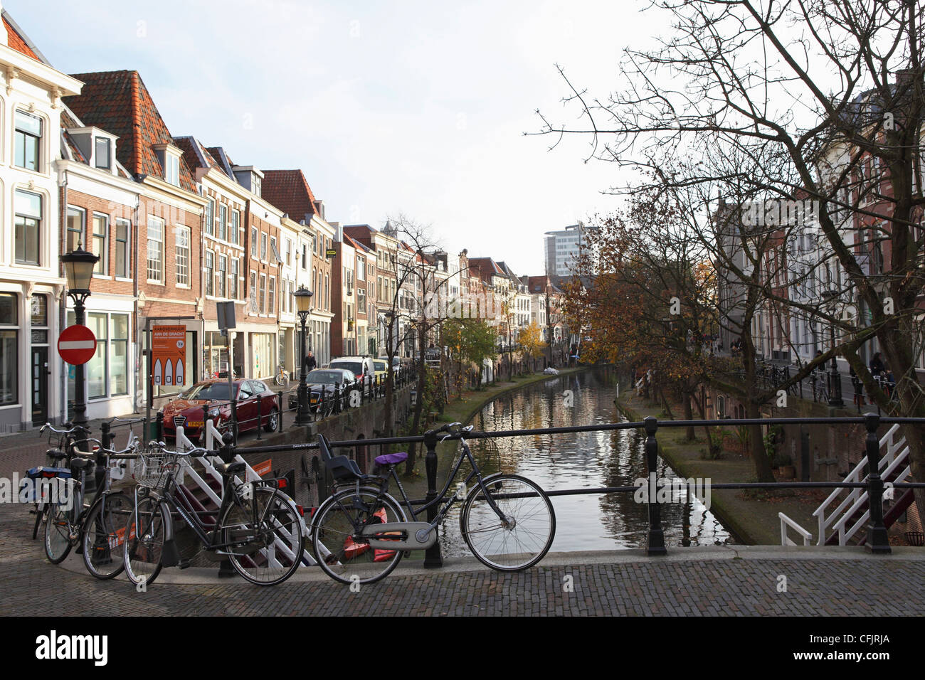
[[[256,506],[254,524],[253,507]],[[302,519],[289,496],[272,488],[257,487],[253,500],[231,503],[219,518],[222,550],[246,580],[258,586],[282,583],[302,562]]]

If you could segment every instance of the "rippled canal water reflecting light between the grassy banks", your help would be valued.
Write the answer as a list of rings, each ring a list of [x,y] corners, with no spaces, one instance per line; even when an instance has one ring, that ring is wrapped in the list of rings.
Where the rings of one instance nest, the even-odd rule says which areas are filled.
[[[472,422],[478,430],[569,427],[625,422],[614,405],[615,374],[595,368],[499,396]],[[546,490],[633,486],[646,476],[645,433],[610,432],[475,439],[470,442],[483,474],[516,473]],[[463,469],[468,466],[463,465]],[[659,477],[674,478],[659,458]],[[704,546],[733,542],[729,531],[695,494],[661,505],[665,543]],[[646,545],[648,510],[633,493],[556,496],[556,538],[551,551],[615,550]],[[459,532],[459,505],[450,513],[442,543],[444,554],[468,554]]]

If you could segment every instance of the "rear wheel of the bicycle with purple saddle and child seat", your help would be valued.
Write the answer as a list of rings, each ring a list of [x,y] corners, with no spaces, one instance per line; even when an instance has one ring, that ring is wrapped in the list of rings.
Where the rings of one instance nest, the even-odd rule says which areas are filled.
[[[384,512],[383,512],[384,511]],[[376,583],[401,561],[401,550],[374,550],[356,536],[354,525],[407,522],[398,501],[371,487],[339,491],[325,501],[312,524],[318,566],[345,584]]]

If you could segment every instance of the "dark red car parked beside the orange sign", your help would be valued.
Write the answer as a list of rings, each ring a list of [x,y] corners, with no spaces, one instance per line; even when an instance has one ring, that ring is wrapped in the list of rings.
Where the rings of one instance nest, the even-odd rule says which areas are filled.
[[[277,428],[279,422],[279,403],[277,395],[270,391],[262,380],[232,380],[231,391],[228,380],[203,380],[197,382],[179,399],[167,403],[161,409],[164,414],[164,436],[176,439],[177,426],[183,427],[183,434],[195,441],[203,432],[203,406],[208,417],[216,421],[215,425],[223,432],[231,427],[231,400],[233,395],[238,400],[239,432],[263,426],[267,432]],[[257,424],[258,402],[260,403],[260,424]]]

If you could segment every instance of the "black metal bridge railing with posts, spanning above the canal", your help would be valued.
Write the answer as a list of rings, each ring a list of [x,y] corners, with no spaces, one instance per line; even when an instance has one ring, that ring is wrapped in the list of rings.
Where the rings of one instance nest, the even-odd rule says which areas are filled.
[[[901,418],[901,417],[881,417],[878,414],[865,414],[863,416],[849,417],[818,417],[818,418],[740,418],[740,419],[723,419],[723,420],[669,420],[660,421],[655,417],[648,417],[643,421],[625,422],[625,423],[603,423],[589,426],[570,426],[570,427],[536,427],[529,429],[516,430],[496,430],[492,432],[472,431],[464,434],[465,439],[496,439],[508,437],[531,437],[536,435],[555,435],[580,432],[606,432],[624,429],[641,429],[646,434],[645,453],[647,464],[647,477],[649,485],[659,485],[658,477],[658,455],[659,443],[656,434],[661,427],[730,427],[730,426],[773,426],[773,425],[863,425],[866,430],[864,438],[865,455],[867,466],[870,474],[864,481],[842,481],[842,482],[736,482],[711,484],[710,489],[733,489],[733,488],[858,488],[867,490],[870,499],[869,518],[866,547],[874,553],[888,554],[891,552],[890,544],[887,539],[886,526],[883,524],[883,489],[884,482],[880,474],[882,469],[880,455],[880,439],[877,430],[881,425],[904,425],[904,426],[925,426],[925,418]],[[461,439],[463,435],[451,434],[445,439]],[[441,439],[444,439],[441,437]],[[425,499],[412,501],[414,505],[421,505],[437,498],[437,444],[438,435],[436,430],[429,430],[423,435],[414,435],[408,437],[388,437],[377,439],[350,439],[343,441],[330,442],[331,448],[356,448],[371,446],[388,446],[391,444],[404,444],[411,442],[423,442],[425,444],[425,470],[427,476],[427,492]],[[223,460],[230,460],[238,452],[246,453],[269,453],[277,451],[308,451],[318,448],[315,441],[307,441],[296,444],[274,445],[274,446],[253,446],[236,451],[233,443],[214,451],[220,455]],[[653,479],[652,476],[655,476]],[[925,483],[902,482],[894,483],[894,489],[906,490],[910,488],[925,488]],[[567,488],[547,490],[549,496],[577,496],[589,494],[611,494],[611,493],[635,493],[640,486],[625,487],[604,487],[604,488]],[[322,499],[318,499],[320,502]],[[663,555],[667,553],[664,540],[664,531],[661,526],[661,502],[657,494],[646,494],[645,499],[648,505],[648,532],[647,532],[647,552],[649,555]],[[436,503],[428,508],[427,519],[433,521],[437,513]],[[782,520],[783,522],[783,520]],[[786,523],[799,533],[804,544],[808,544],[811,535],[802,527],[792,521]],[[786,527],[782,527],[782,539],[786,542]],[[440,556],[439,541],[426,551],[425,566],[440,566],[442,558]]]

